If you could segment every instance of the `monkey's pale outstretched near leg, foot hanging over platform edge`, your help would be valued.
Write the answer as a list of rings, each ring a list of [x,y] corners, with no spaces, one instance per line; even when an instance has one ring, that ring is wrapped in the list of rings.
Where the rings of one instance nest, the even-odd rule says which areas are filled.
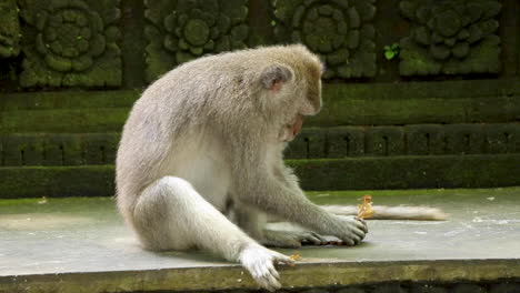
[[[148,247],[197,246],[211,251],[240,262],[260,285],[271,291],[281,286],[273,263],[293,263],[249,238],[180,178],[164,176],[149,185],[141,193],[133,216],[136,230]]]

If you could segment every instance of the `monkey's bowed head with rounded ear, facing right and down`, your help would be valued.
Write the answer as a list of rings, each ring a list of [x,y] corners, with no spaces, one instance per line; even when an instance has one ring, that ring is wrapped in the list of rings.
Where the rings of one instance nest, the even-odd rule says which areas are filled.
[[[300,132],[306,115],[321,110],[320,59],[301,44],[274,47],[272,60],[261,71],[266,109],[280,128],[279,140],[291,141]]]

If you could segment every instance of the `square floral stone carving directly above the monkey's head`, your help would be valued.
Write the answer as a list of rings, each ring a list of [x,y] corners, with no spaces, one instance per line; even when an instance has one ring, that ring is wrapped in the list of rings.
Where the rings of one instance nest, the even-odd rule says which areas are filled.
[[[273,0],[278,42],[303,43],[327,63],[323,78],[376,75],[376,0]]]

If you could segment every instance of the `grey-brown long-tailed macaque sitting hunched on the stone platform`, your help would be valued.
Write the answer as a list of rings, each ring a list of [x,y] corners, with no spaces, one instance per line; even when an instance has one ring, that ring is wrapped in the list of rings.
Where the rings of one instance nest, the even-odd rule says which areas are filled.
[[[293,261],[263,245],[360,243],[366,222],[311,203],[282,160],[320,111],[322,71],[303,46],[277,46],[203,57],[151,84],[117,156],[118,206],[143,246],[211,251],[276,290],[274,264]],[[267,230],[267,215],[312,232]]]

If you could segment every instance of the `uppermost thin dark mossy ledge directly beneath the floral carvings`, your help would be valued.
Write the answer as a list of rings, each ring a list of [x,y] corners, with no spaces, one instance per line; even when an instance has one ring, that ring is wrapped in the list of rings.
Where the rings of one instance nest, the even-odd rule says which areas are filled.
[[[426,82],[323,83],[326,101],[426,100],[520,97],[519,79]],[[447,90],[449,89],[449,90]],[[44,110],[131,107],[140,90],[37,91],[1,93],[0,110]]]

